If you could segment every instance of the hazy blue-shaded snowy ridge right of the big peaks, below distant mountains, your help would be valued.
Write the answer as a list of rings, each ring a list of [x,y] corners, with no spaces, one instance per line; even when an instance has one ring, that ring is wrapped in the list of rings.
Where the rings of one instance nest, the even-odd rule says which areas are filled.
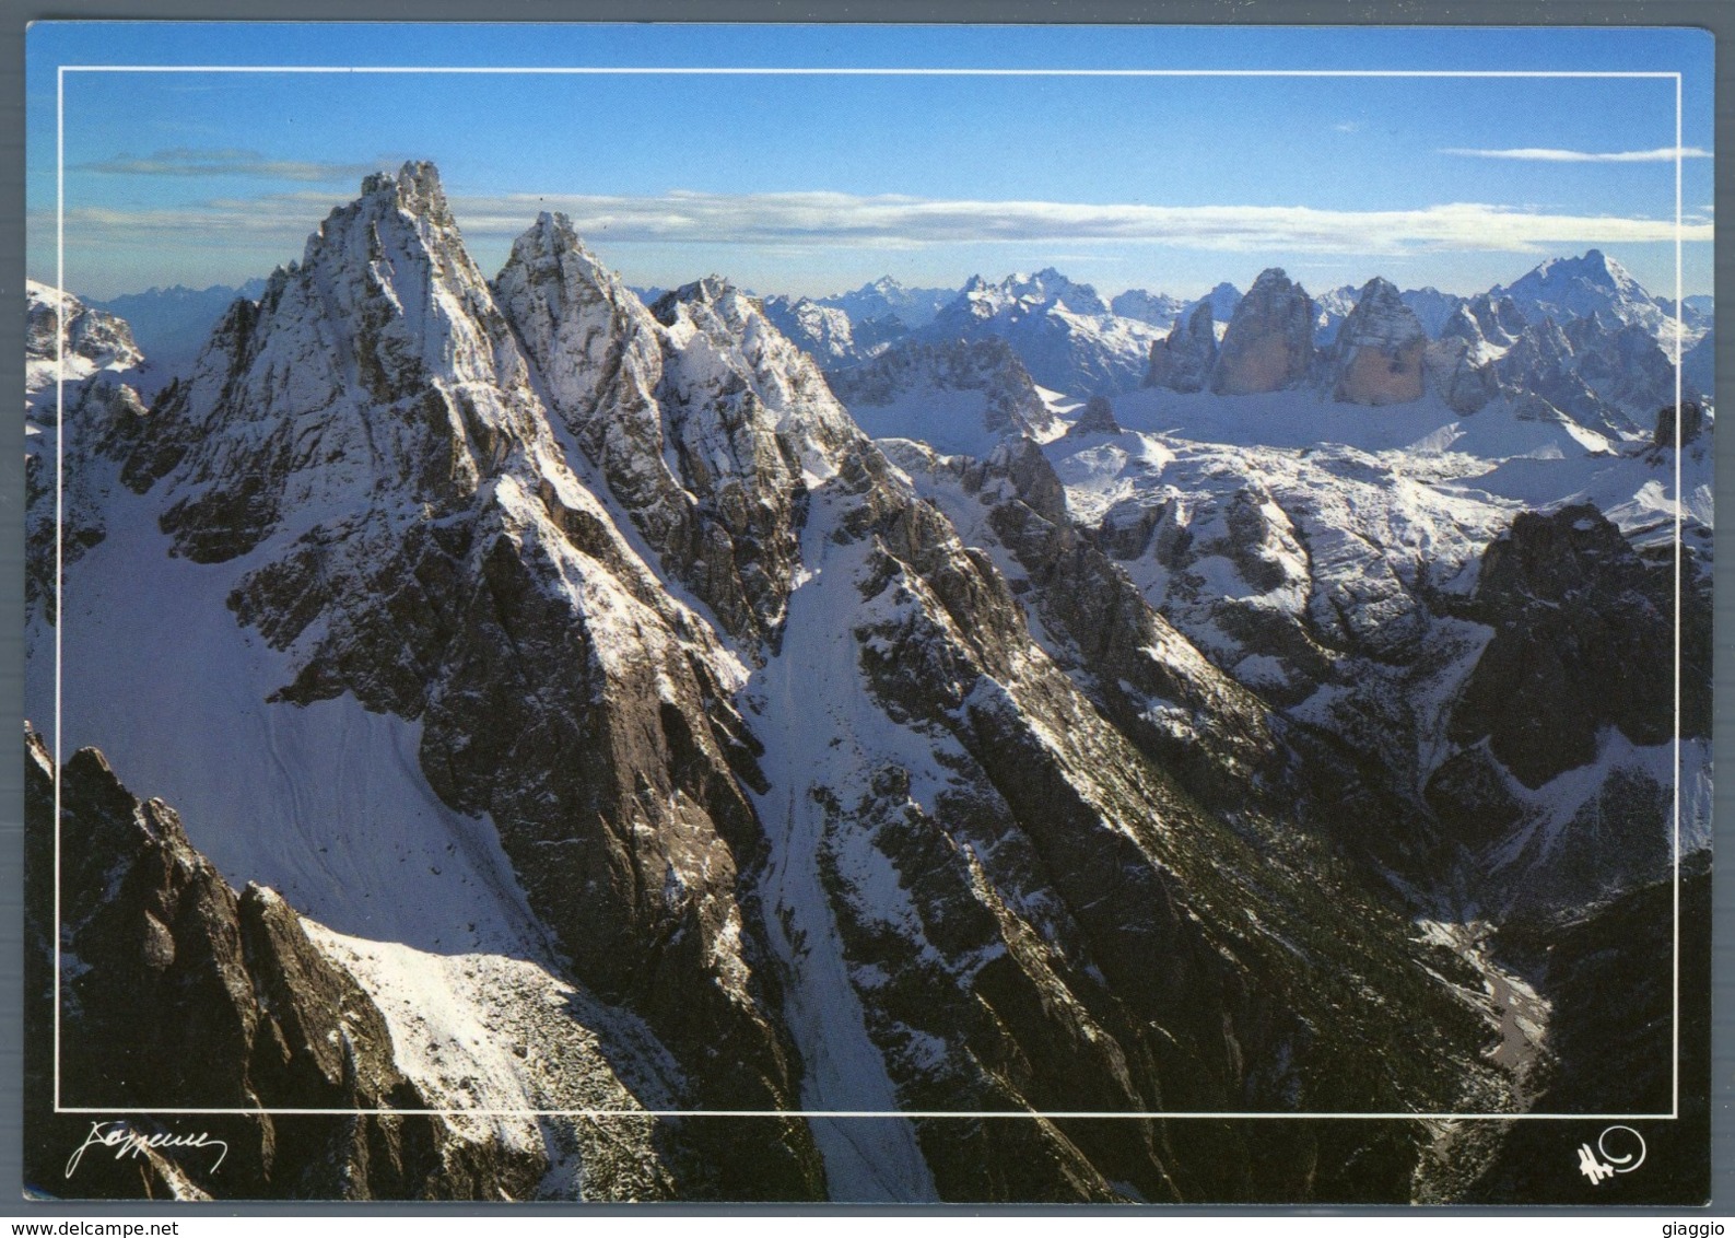
[[[833,370],[826,379],[838,399],[874,438],[921,438],[939,446],[973,446],[1006,434],[1041,436],[1055,420],[1024,363],[998,337],[946,344],[906,340],[866,365]],[[980,392],[977,425],[935,424],[940,417],[958,417],[946,405],[963,392]],[[923,405],[928,406],[926,412]]]

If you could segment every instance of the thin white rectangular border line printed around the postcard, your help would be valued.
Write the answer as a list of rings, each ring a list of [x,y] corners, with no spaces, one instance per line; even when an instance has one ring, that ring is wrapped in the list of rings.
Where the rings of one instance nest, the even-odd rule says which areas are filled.
[[[1074,78],[1645,78],[1674,82],[1674,795],[1671,800],[1674,934],[1673,934],[1673,1078],[1667,1113],[1241,1113],[1218,1111],[1036,1111],[1036,1110],[262,1110],[262,1108],[94,1108],[61,1104],[61,629],[66,616],[64,585],[64,389],[66,389],[66,75],[68,73],[363,73],[363,75],[540,75],[540,76],[1074,76]],[[1287,1122],[1674,1122],[1681,1115],[1681,573],[1685,545],[1685,505],[1681,498],[1681,340],[1683,306],[1683,234],[1681,234],[1681,73],[1664,71],[1594,71],[1594,69],[923,69],[923,68],[656,68],[656,66],[326,66],[326,64],[59,64],[56,66],[56,379],[54,379],[54,1113],[95,1115],[238,1115],[272,1116],[354,1116],[354,1115],[439,1115],[439,1116],[524,1116],[524,1118],[1116,1118],[1138,1122],[1162,1120],[1287,1120]]]

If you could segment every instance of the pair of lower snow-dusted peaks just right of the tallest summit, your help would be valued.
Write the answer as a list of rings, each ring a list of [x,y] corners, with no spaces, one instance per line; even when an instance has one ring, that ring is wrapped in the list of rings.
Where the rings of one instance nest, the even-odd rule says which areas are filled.
[[[809,474],[848,427],[814,363],[717,281],[652,314],[560,215],[517,240],[494,286],[552,410],[652,552],[729,632],[765,639]]]

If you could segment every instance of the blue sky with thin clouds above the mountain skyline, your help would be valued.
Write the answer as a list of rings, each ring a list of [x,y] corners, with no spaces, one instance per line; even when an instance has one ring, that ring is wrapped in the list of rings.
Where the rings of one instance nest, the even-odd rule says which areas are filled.
[[[638,285],[826,293],[1057,266],[1112,295],[1475,292],[1600,247],[1674,290],[1676,83],[1535,76],[840,75],[831,69],[1683,75],[1683,285],[1711,290],[1712,42],[1690,30],[380,26],[38,23],[29,273],[239,283],[300,255],[361,177],[434,160],[484,271],[538,210]],[[449,75],[805,68],[810,75]]]

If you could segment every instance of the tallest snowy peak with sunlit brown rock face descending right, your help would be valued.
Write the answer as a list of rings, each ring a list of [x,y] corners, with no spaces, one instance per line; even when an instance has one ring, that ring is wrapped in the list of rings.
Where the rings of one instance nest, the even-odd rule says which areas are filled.
[[[734,444],[800,476],[800,453],[760,432],[777,412],[708,335],[746,299],[689,297],[663,302],[684,347],[659,391],[692,408],[677,432],[710,436],[717,472]],[[739,663],[573,476],[432,167],[370,177],[257,309],[238,304],[161,420],[134,477],[163,477],[161,524],[182,554],[248,556],[229,606],[297,668],[279,698],[352,693],[420,721],[429,783],[493,818],[578,976],[687,1063],[729,1045],[689,1104],[791,1108],[798,1068],[737,891],[758,846],[730,766],[751,767],[727,705]],[[762,1134],[715,1151],[718,1189],[817,1189],[802,1129]]]

